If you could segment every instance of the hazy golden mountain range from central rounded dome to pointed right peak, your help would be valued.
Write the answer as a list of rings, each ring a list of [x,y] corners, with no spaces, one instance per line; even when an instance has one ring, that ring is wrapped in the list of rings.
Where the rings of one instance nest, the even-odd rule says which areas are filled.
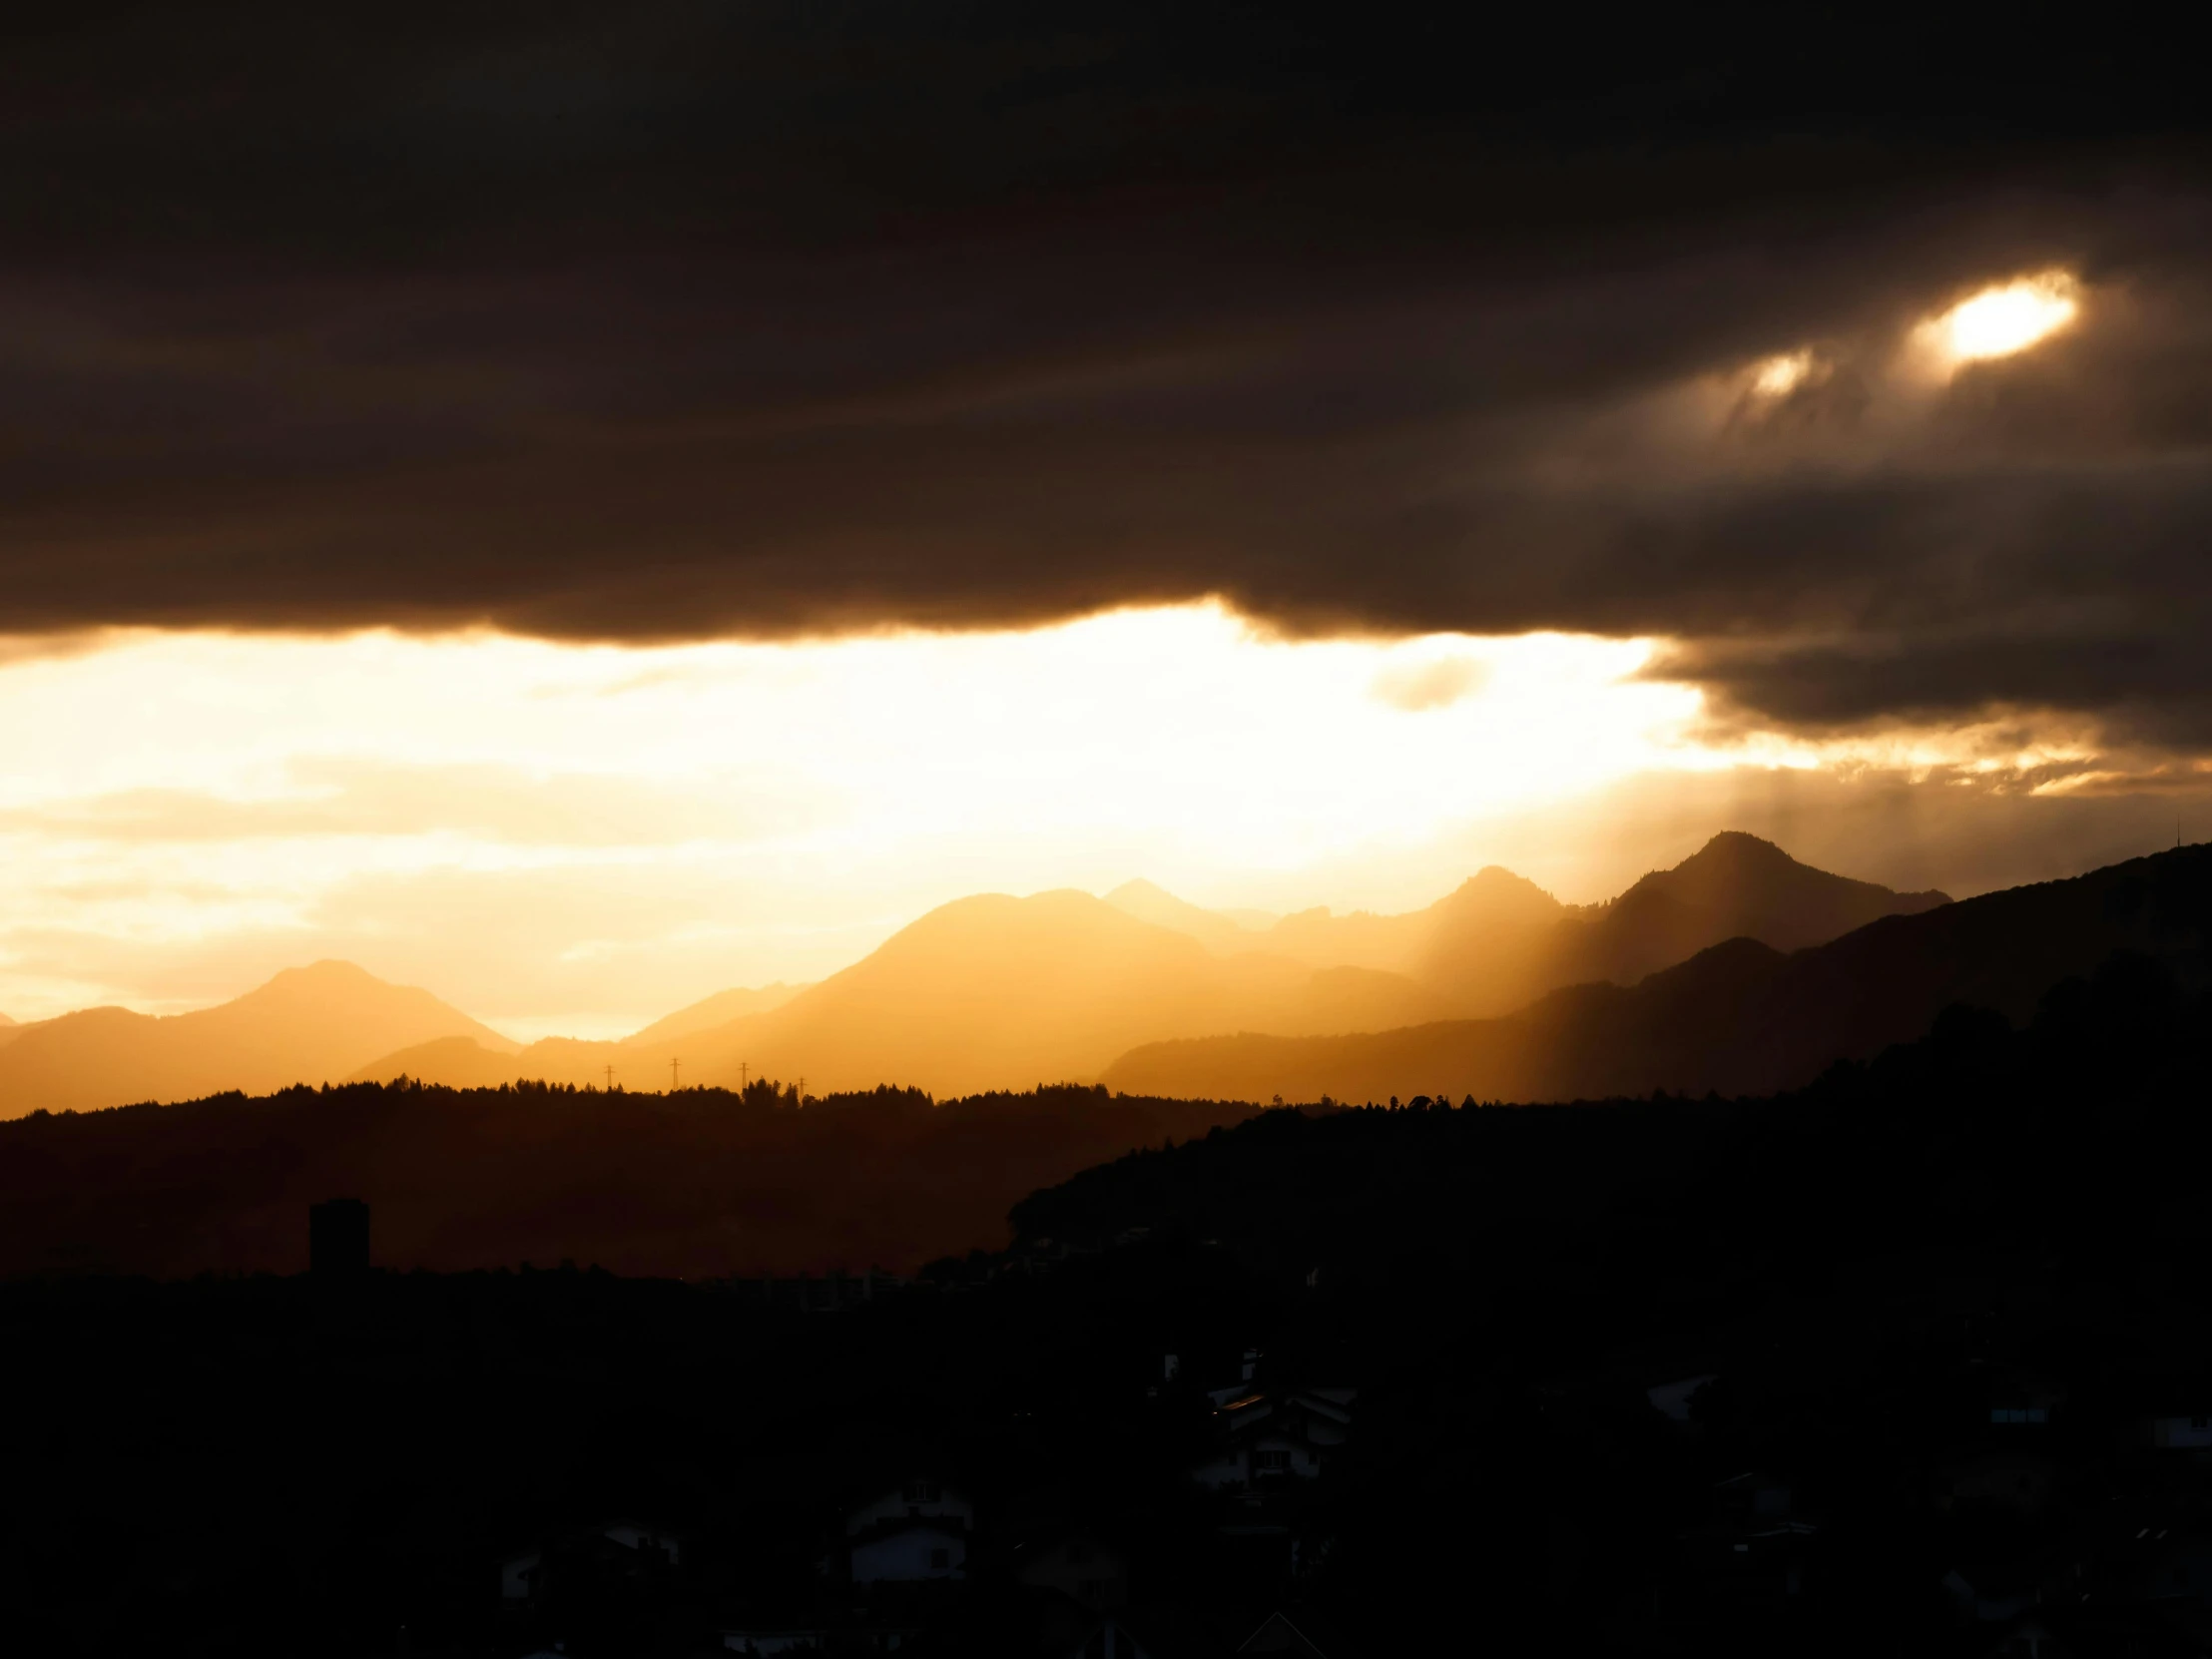
[[[1741,834],[1586,909],[1495,867],[1422,911],[1305,911],[1272,927],[1150,883],[1104,900],[982,894],[933,909],[783,1006],[714,1029],[542,1042],[518,1055],[445,1040],[385,1055],[363,1077],[588,1084],[613,1068],[615,1082],[664,1088],[670,1075],[737,1084],[765,1071],[805,1077],[814,1093],[878,1082],[938,1095],[1026,1088],[1117,1077],[1121,1055],[1164,1040],[1396,1031],[1520,1009],[1584,980],[1637,980],[1728,938],[1794,949],[1942,902],[1809,869]]]

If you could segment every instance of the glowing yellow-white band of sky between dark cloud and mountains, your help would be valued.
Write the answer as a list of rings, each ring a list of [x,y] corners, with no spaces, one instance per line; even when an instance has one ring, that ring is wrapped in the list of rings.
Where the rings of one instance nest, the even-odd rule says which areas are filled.
[[[186,1006],[332,953],[613,1031],[967,891],[1387,869],[1703,763],[1648,655],[1290,644],[1214,606],[655,650],[117,635],[0,668],[0,1009]],[[1347,898],[1398,894],[1310,894]]]

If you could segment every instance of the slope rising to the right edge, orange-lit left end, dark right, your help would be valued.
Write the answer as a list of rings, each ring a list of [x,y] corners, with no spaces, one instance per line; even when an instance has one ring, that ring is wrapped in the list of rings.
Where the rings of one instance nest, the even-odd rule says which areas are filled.
[[[1624,900],[1626,902],[1626,900]],[[2212,847],[2075,880],[1885,916],[1783,956],[1730,940],[1635,987],[1579,984],[1500,1020],[1347,1037],[1199,1037],[1135,1048],[1110,1088],[1243,1099],[1475,1095],[1601,1099],[1796,1088],[1836,1060],[1922,1035],[1953,1002],[2031,1015],[2115,951],[2174,962],[2194,984],[2212,938]]]

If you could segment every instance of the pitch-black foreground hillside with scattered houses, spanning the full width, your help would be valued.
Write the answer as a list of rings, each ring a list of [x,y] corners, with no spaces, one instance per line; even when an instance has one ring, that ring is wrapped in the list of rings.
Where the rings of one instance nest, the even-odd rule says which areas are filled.
[[[2026,1029],[1947,1011],[1781,1099],[1270,1110],[834,1316],[564,1270],[0,1283],[9,1650],[695,1659],[891,1630],[1068,1659],[1104,1597],[1024,1573],[1079,1540],[1075,1588],[1190,1659],[1276,1610],[1327,1659],[2201,1655],[2212,1053],[2181,980],[2119,958]],[[522,1106],[551,1128],[566,1099]],[[257,1133],[228,1157],[294,1157],[232,1121]],[[750,1161],[692,1175],[728,1192]],[[679,1164],[650,1172],[666,1197]],[[1354,1391],[1349,1433],[1312,1480],[1208,1491],[1194,1469],[1270,1433],[1221,1385]],[[847,1506],[907,1482],[973,1500],[962,1579],[825,1573]],[[608,1548],[615,1517],[681,1559]],[[524,1553],[546,1573],[507,1597]]]

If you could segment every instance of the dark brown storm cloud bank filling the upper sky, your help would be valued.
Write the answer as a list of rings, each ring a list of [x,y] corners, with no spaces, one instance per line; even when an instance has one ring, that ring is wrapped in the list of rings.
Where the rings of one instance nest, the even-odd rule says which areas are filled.
[[[2183,55],[1774,18],[71,11],[0,58],[0,633],[1221,593],[2212,739]],[[2046,265],[2075,330],[1913,378]]]

